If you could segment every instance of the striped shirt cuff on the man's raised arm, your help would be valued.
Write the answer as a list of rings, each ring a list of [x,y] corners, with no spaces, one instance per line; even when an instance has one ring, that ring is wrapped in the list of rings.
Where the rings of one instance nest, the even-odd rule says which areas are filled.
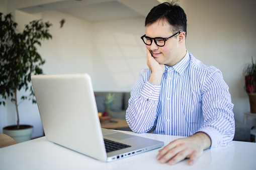
[[[140,94],[141,94],[141,96],[143,96],[149,100],[158,101],[160,89],[161,89],[161,85],[155,85],[149,81],[146,81]]]

